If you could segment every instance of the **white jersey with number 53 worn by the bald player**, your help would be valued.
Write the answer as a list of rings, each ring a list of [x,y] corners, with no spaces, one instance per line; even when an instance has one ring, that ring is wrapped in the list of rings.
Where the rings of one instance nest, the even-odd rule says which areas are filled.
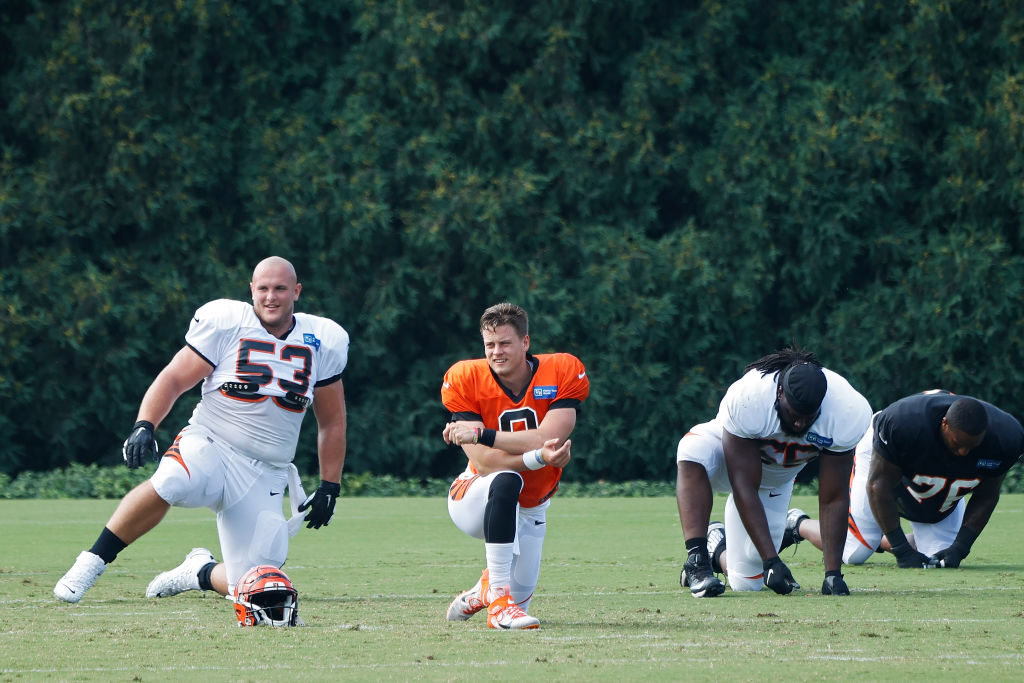
[[[348,362],[348,333],[318,315],[295,313],[278,339],[251,304],[218,299],[196,311],[185,343],[213,366],[191,419],[240,453],[287,465],[317,386],[337,382]]]

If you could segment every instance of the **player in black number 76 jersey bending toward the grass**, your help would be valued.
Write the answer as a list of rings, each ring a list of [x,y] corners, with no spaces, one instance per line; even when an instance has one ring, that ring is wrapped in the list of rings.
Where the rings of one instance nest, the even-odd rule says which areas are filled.
[[[900,398],[871,422],[854,457],[843,561],[861,564],[888,550],[901,568],[958,567],[1024,455],[1020,422],[942,390]],[[901,518],[910,522],[909,537]],[[819,524],[793,509],[783,547],[804,539],[820,548]]]

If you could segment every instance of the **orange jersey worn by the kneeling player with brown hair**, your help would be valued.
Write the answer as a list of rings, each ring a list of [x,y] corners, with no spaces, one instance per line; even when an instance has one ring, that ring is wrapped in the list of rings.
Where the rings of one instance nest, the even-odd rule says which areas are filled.
[[[587,369],[570,353],[541,353],[527,358],[537,368],[521,396],[509,394],[495,379],[486,358],[460,360],[444,374],[441,402],[456,420],[480,420],[488,429],[513,432],[537,429],[551,409],[578,409],[590,393]],[[470,469],[476,472],[473,464]],[[551,498],[562,476],[560,467],[520,472],[519,505],[532,508]]]

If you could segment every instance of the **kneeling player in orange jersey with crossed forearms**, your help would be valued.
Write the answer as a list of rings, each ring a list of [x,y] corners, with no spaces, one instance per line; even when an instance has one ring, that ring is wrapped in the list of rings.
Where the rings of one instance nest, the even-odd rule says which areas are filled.
[[[573,355],[530,354],[519,306],[487,308],[480,334],[485,357],[455,364],[441,385],[452,413],[443,438],[469,460],[449,492],[449,514],[483,540],[486,555],[480,581],[452,601],[447,620],[486,609],[493,629],[536,629],[540,621],[526,609],[541,572],[547,510],[590,381]]]

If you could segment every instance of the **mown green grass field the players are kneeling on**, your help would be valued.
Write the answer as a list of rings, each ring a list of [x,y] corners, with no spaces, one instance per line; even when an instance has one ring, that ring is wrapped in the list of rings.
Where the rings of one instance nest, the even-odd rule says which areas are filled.
[[[1002,498],[961,569],[897,569],[877,555],[847,567],[850,597],[822,597],[821,554],[805,543],[783,553],[804,590],[710,600],[679,587],[672,499],[556,500],[530,608],[541,629],[501,633],[480,615],[443,618],[478,577],[482,545],[442,499],[342,500],[329,527],[294,539],[286,570],[305,629],[240,629],[212,594],[144,597],[193,546],[219,557],[207,510],[172,510],[80,604],[58,603],[53,584],[114,507],[0,501],[0,680],[1024,677],[1024,496]]]

